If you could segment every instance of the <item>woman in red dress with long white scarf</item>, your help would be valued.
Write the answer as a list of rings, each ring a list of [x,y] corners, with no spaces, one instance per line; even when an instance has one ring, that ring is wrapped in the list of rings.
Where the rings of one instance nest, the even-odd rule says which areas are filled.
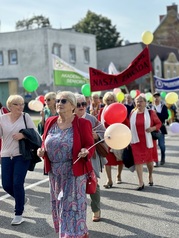
[[[159,130],[162,123],[154,110],[148,111],[145,96],[135,98],[135,109],[130,115],[130,129],[132,133],[131,147],[134,164],[137,172],[139,187],[144,189],[143,164],[147,164],[149,172],[149,185],[153,186],[153,162],[158,161],[156,141],[152,139],[151,132]]]

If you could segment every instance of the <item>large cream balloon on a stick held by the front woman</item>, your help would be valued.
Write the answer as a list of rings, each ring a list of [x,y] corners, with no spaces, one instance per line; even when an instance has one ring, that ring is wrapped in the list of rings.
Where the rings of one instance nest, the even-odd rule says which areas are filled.
[[[110,125],[105,133],[104,140],[106,144],[116,150],[127,147],[132,139],[131,130],[122,123],[114,123]]]

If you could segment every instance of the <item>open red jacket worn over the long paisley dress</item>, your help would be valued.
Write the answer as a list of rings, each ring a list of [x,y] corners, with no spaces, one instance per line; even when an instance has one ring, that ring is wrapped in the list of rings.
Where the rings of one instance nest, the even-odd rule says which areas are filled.
[[[48,134],[48,130],[57,121],[57,119],[58,116],[53,116],[49,117],[46,120],[44,127],[44,134],[42,136],[43,139],[42,148],[44,148],[44,141]],[[88,149],[89,147],[94,145],[94,139],[92,135],[92,126],[90,121],[75,116],[74,120],[72,121],[72,127],[73,127],[72,153],[73,153],[73,162],[75,162],[78,159],[78,153],[80,152],[81,148]],[[91,157],[93,156],[94,151],[95,146],[89,150],[89,154],[85,158],[80,158],[78,162],[73,164],[72,169],[73,174],[75,176],[81,176],[92,170]],[[51,163],[47,153],[45,153],[43,159],[45,163],[45,172],[48,173],[51,170]]]

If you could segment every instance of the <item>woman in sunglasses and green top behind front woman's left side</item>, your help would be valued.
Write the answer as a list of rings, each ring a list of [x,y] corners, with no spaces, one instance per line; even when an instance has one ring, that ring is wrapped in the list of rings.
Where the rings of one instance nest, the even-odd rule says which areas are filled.
[[[40,112],[41,120],[37,127],[40,135],[42,135],[44,132],[44,124],[45,124],[45,121],[47,120],[47,118],[49,118],[51,116],[58,115],[56,112],[56,104],[55,104],[56,93],[49,92],[49,93],[45,94],[44,98],[45,98],[45,107]]]

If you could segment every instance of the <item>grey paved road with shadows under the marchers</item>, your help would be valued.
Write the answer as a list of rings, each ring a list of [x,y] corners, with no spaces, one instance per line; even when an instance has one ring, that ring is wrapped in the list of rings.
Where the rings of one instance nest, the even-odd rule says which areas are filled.
[[[155,186],[148,186],[144,167],[145,190],[136,191],[136,173],[124,169],[122,184],[104,189],[105,173],[100,179],[102,220],[91,221],[88,198],[87,223],[90,238],[117,237],[179,237],[179,135],[169,134],[166,139],[166,164],[154,169]],[[113,180],[116,167],[113,167]],[[0,187],[0,238],[45,237],[57,238],[54,233],[50,205],[48,177],[39,163],[26,179],[26,194],[30,198],[25,207],[25,222],[12,227],[13,200]]]

